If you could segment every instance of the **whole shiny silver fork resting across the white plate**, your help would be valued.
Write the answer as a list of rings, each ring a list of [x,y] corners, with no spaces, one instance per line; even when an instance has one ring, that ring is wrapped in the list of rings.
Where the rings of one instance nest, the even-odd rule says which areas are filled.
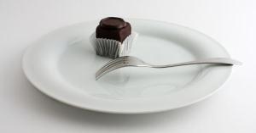
[[[96,72],[96,80],[98,80],[103,75],[106,75],[115,69],[120,69],[124,67],[170,68],[170,67],[177,67],[177,66],[190,65],[190,64],[241,65],[241,62],[231,58],[202,58],[202,59],[183,62],[179,64],[154,65],[154,64],[145,63],[140,58],[136,58],[132,56],[123,56],[120,58],[113,59],[109,61],[107,64],[104,64],[102,68]]]

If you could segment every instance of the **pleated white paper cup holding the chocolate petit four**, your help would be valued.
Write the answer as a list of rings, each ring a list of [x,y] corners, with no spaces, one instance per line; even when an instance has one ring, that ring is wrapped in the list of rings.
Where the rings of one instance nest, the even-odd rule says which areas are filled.
[[[90,42],[94,47],[96,54],[109,58],[119,58],[131,52],[131,46],[136,41],[137,33],[131,32],[124,42],[119,42],[112,39],[96,38],[96,33],[90,36]]]

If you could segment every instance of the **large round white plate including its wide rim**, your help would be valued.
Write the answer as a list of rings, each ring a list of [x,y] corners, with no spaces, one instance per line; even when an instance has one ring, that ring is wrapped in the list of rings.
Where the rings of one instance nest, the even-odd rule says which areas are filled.
[[[131,55],[152,64],[195,58],[230,57],[210,37],[164,22],[128,19],[138,32]],[[125,68],[95,80],[109,59],[96,56],[89,42],[98,21],[55,30],[26,50],[23,69],[31,83],[58,101],[100,112],[143,114],[181,108],[217,91],[230,66],[191,65],[170,69]]]

